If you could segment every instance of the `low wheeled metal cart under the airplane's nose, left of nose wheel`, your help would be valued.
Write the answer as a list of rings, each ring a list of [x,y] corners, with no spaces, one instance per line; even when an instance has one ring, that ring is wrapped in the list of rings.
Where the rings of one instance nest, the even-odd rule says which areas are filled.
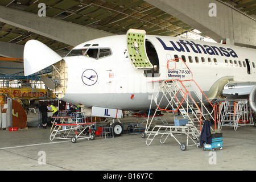
[[[53,118],[53,117],[52,117]],[[55,123],[54,128],[51,129],[50,140],[53,139],[71,139],[71,142],[76,143],[77,139],[91,139],[94,140],[95,135],[90,133],[90,127],[94,126],[96,122],[90,123],[63,123],[65,117],[55,117],[56,119],[63,119],[61,123]],[[69,117],[68,117],[69,118]],[[89,129],[89,135],[86,131]]]

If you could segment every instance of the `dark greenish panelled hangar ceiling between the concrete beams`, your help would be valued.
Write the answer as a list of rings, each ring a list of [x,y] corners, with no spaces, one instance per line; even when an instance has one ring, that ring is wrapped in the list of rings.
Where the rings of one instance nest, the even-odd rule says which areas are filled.
[[[255,18],[255,0],[222,0]],[[194,28],[143,0],[1,0],[0,5],[37,14],[39,3],[47,6],[46,14],[55,19],[110,32],[126,34],[129,28],[147,34],[177,36]],[[200,34],[201,36],[206,36]],[[0,22],[0,42],[24,45],[36,39],[54,51],[69,51],[72,46],[46,38],[19,27]]]

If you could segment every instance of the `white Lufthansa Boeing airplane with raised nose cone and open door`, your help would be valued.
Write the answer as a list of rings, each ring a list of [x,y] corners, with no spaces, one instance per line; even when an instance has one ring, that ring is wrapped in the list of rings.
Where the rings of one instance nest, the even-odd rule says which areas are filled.
[[[182,68],[179,57],[189,69]],[[250,96],[256,112],[255,57],[250,48],[129,30],[82,43],[65,57],[30,40],[24,73],[52,65],[52,80],[42,76],[46,86],[60,100],[92,108],[94,116],[121,118],[122,110],[149,109],[154,81],[191,76],[210,101]]]

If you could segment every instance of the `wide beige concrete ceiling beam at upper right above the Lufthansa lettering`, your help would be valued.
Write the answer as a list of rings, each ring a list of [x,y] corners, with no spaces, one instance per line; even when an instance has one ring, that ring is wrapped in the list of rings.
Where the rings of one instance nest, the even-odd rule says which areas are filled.
[[[203,32],[218,43],[221,40],[223,42],[230,40],[237,46],[256,48],[255,19],[223,2],[216,0],[145,1]],[[210,3],[214,3],[213,6]],[[212,16],[212,12],[209,15],[209,11],[216,11],[216,16]]]

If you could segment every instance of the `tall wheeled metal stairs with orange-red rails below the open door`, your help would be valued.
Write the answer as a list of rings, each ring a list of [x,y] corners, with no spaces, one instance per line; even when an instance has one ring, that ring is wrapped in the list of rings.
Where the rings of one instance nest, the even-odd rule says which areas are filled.
[[[188,73],[188,76],[181,79],[152,81],[152,84],[154,84],[154,90],[157,90],[157,92],[152,94],[149,113],[154,109],[152,108],[153,101],[155,102],[154,104],[156,105],[156,108],[152,118],[147,118],[146,130],[142,133],[142,138],[146,138],[146,135],[149,134],[146,140],[146,143],[150,140],[150,142],[147,143],[147,145],[149,145],[155,136],[159,134],[162,134],[162,137],[167,134],[167,137],[170,135],[175,138],[173,133],[175,130],[176,133],[187,135],[188,146],[188,138],[197,139],[197,137],[200,136],[201,126],[203,121],[206,119],[212,119],[214,121],[213,130],[216,130],[216,107],[212,105],[207,96],[205,96],[203,91],[200,89],[199,85],[197,85],[195,80],[193,80],[192,72],[181,58],[168,60],[167,68],[168,71],[176,70],[181,73]],[[155,84],[155,82],[158,82],[158,84]],[[156,125],[150,131],[152,121],[156,117],[156,113],[159,111],[169,111],[172,113],[179,111],[179,113],[181,113],[181,118],[187,119],[188,125]],[[156,128],[158,129],[155,131]],[[160,131],[163,129],[164,132]],[[150,139],[151,134],[154,134],[152,139]],[[192,137],[190,137],[189,134],[192,134]],[[161,140],[160,142],[164,143],[167,137],[163,142]],[[176,138],[175,140],[181,145]],[[193,143],[196,144],[194,141]],[[185,150],[185,148],[186,144],[183,143],[181,150]]]

